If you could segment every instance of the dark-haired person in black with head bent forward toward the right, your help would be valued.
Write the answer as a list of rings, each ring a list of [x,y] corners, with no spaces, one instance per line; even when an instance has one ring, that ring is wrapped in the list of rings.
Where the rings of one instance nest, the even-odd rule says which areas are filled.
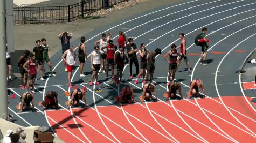
[[[148,77],[150,74],[150,83],[153,80],[153,74],[155,70],[155,59],[158,54],[161,54],[161,49],[157,48],[155,49],[155,52],[151,52],[148,56],[148,63],[147,63],[147,76],[146,76],[146,82],[148,81]]]

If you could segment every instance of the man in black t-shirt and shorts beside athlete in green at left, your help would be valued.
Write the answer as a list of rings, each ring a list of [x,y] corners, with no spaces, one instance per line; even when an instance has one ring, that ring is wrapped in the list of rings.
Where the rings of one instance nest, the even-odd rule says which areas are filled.
[[[37,66],[39,64],[40,66],[40,76],[41,76],[41,80],[44,81],[44,78],[43,78],[43,57],[44,57],[44,49],[43,47],[41,46],[41,41],[40,40],[37,40],[36,41],[37,43],[37,46],[34,47],[33,49],[33,54],[34,54],[34,59],[37,61]],[[37,79],[37,78],[36,78]]]

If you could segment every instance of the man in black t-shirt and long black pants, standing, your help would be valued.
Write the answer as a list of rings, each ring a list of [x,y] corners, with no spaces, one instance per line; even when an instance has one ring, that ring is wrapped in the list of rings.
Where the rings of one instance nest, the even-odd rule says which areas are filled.
[[[133,63],[136,67],[136,76],[138,76],[138,74],[139,74],[139,62],[138,62],[138,58],[136,56],[136,52],[139,50],[137,49],[136,44],[133,43],[132,38],[128,39],[128,44],[126,45],[126,50],[128,52],[129,58],[130,58],[130,79],[133,79],[133,74],[132,74]]]

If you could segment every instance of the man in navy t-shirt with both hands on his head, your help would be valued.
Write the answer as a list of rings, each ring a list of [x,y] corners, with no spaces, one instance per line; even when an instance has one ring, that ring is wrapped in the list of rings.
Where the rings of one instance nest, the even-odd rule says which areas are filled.
[[[70,36],[68,36],[70,34]],[[70,49],[70,39],[74,36],[73,33],[70,32],[63,32],[58,35],[59,39],[61,40],[61,47],[62,47],[62,54],[68,49]],[[67,71],[67,63],[63,61],[65,71]]]

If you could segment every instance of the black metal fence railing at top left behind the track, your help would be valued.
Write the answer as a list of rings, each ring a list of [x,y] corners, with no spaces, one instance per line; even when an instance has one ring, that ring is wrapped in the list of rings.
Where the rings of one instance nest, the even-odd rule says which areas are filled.
[[[83,0],[73,5],[54,4],[23,4],[13,8],[15,24],[70,22],[84,16],[129,0]]]

